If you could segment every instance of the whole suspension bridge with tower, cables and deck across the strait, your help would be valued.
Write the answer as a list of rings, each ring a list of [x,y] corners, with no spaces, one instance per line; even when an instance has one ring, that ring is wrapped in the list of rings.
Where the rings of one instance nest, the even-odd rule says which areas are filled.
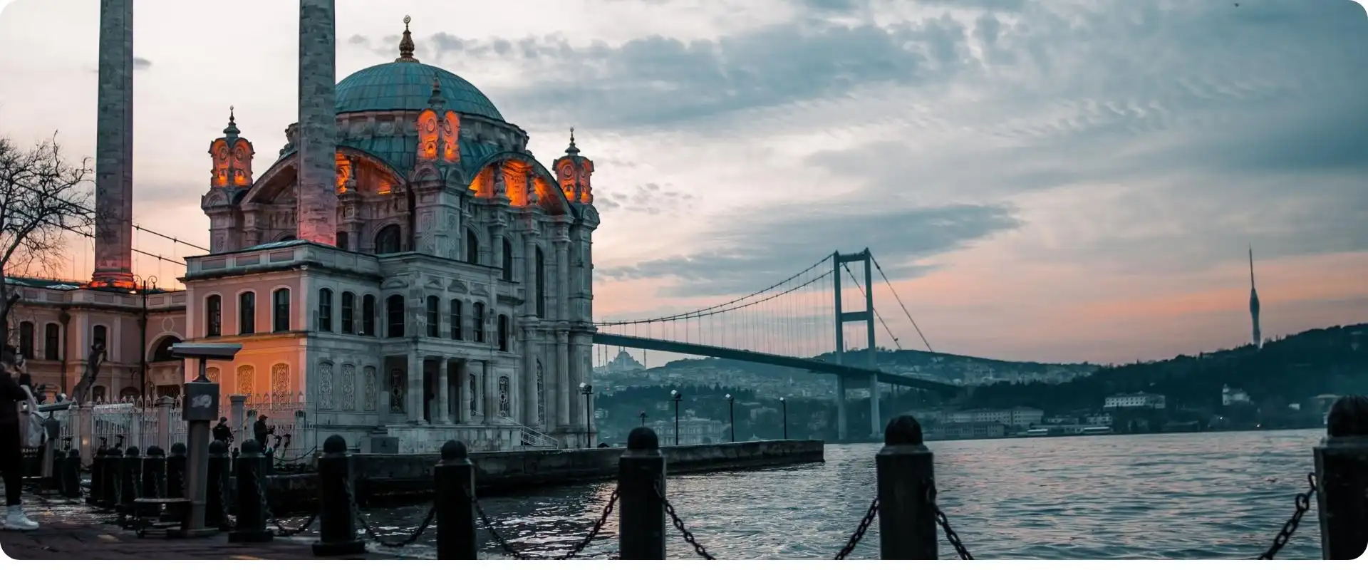
[[[860,267],[860,275],[851,269],[852,264]],[[880,368],[876,321],[897,349],[902,349],[902,342],[874,309],[876,271],[922,343],[933,351],[869,249],[851,254],[834,252],[778,283],[722,303],[663,317],[595,323],[598,332],[594,334],[594,343],[603,349],[605,361],[609,347],[620,347],[830,375],[836,383],[839,437],[847,439],[845,394],[852,388],[869,390],[870,433],[877,436],[884,429],[878,410],[880,383],[943,395],[955,395],[960,388],[929,376],[892,373]],[[858,338],[847,342],[848,331],[858,331],[863,342]],[[863,347],[855,351],[851,344]]]

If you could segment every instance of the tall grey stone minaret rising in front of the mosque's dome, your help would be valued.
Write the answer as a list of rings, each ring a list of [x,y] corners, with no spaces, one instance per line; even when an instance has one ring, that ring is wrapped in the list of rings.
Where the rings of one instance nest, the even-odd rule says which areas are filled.
[[[300,153],[295,236],[337,245],[337,3],[300,0]]]

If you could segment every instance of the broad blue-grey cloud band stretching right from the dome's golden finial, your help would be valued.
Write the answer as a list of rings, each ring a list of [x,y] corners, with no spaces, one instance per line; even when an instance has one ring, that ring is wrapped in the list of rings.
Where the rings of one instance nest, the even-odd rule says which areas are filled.
[[[393,53],[389,38],[375,48]],[[491,89],[531,124],[680,124],[740,109],[843,97],[858,86],[944,78],[970,62],[964,27],[949,18],[889,27],[804,19],[718,40],[648,36],[609,45],[566,36],[473,40],[438,33],[417,41],[436,62],[517,66],[523,85]],[[369,45],[369,44],[368,44]]]

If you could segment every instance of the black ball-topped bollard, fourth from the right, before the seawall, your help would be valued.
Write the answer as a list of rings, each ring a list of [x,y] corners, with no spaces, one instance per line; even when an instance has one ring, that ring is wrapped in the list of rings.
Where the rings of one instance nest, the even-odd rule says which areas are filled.
[[[432,470],[436,491],[436,559],[475,560],[475,463],[465,444],[447,440]]]

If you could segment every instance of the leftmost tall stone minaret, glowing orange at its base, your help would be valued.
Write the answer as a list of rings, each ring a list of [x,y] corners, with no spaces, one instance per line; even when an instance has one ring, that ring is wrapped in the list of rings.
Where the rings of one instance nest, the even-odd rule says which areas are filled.
[[[100,0],[96,287],[133,288],[133,0]]]

